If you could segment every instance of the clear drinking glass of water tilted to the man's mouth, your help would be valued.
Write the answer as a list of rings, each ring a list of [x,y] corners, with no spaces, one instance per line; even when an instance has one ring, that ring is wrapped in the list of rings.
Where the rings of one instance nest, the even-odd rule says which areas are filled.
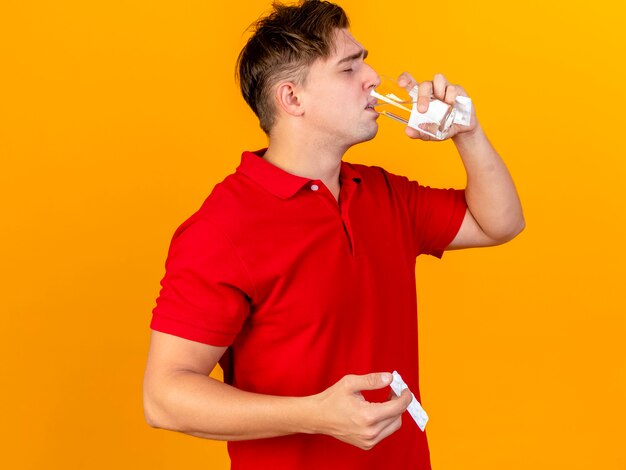
[[[378,100],[374,105],[376,111],[435,139],[446,138],[454,122],[454,106],[431,97],[428,110],[420,113],[417,110],[417,86],[407,91],[393,78],[384,75],[380,78],[380,85],[371,93]]]

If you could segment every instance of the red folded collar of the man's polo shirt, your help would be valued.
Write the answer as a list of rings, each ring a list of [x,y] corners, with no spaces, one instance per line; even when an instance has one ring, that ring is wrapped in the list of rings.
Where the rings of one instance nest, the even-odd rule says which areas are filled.
[[[243,152],[241,155],[241,163],[237,171],[246,175],[253,181],[260,184],[274,196],[281,199],[289,199],[294,196],[302,187],[312,181],[310,178],[292,175],[285,170],[272,165],[263,159],[263,155],[267,149],[258,150],[256,152]],[[356,183],[361,182],[361,176],[352,165],[341,162],[339,170],[339,178],[341,183],[351,179]]]

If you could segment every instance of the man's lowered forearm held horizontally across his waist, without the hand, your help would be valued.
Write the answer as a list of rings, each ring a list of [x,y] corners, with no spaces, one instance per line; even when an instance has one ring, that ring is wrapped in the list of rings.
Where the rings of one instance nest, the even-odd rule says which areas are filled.
[[[315,432],[311,397],[244,392],[189,371],[146,387],[148,422],[158,428],[217,440],[247,440]]]

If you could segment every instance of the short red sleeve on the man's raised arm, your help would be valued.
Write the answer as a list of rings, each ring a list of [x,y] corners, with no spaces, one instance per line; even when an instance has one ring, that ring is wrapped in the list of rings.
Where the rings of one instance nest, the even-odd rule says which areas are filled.
[[[407,201],[415,256],[441,258],[463,223],[467,210],[465,191],[422,186],[405,176],[388,177]]]

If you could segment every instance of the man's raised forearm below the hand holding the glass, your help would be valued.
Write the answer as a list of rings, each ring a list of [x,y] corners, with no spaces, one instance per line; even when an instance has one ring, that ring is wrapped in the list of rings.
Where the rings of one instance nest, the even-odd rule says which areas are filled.
[[[510,240],[524,228],[513,179],[480,124],[452,138],[467,172],[467,206],[482,231],[494,241]]]

